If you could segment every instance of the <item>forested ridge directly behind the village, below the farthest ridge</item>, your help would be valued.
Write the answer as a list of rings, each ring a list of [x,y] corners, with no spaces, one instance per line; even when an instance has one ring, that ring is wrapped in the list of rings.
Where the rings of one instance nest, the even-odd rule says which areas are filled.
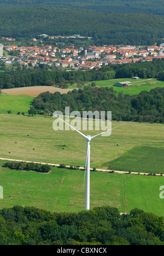
[[[0,9],[0,36],[40,34],[93,37],[96,44],[153,45],[164,38],[162,15],[108,13],[46,5]]]

